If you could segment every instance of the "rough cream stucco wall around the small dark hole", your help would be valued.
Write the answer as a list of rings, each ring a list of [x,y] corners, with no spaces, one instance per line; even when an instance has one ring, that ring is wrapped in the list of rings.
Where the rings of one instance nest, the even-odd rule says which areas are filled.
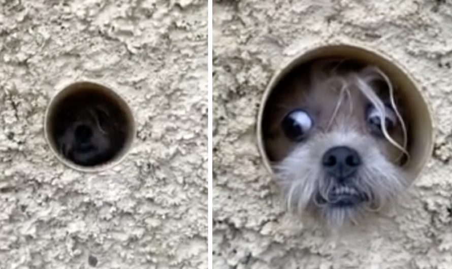
[[[0,1],[0,268],[207,268],[206,70],[205,0]],[[55,86],[81,78],[136,114],[103,173],[43,135]]]

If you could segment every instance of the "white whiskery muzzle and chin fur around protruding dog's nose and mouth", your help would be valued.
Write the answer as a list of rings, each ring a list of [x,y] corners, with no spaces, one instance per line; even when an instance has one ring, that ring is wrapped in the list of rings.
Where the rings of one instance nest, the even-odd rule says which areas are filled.
[[[408,182],[398,165],[387,160],[372,146],[374,142],[352,128],[318,135],[298,145],[275,165],[276,181],[282,187],[287,207],[298,213],[308,212],[329,227],[362,224],[370,219],[369,213],[383,213],[399,201]],[[321,169],[321,156],[331,147],[348,146],[359,152],[363,165],[347,182],[369,199],[358,205],[338,207],[328,200],[336,182]]]

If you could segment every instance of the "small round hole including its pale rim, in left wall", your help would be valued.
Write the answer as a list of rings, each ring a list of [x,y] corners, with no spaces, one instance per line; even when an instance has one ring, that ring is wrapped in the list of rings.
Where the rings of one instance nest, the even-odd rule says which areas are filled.
[[[122,160],[135,137],[135,120],[115,91],[81,81],[64,87],[51,99],[45,136],[64,164],[94,172]]]

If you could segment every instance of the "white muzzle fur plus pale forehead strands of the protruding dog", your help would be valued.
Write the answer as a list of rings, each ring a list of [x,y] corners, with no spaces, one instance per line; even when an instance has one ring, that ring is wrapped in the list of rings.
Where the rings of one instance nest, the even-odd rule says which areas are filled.
[[[370,84],[371,81],[377,79],[384,80],[389,84],[391,105],[402,124],[404,136],[402,145],[393,140],[384,127],[384,105]],[[322,84],[321,81],[324,83]],[[392,85],[378,69],[366,68],[360,73],[352,73],[345,78],[333,76],[325,80],[317,79],[315,82],[314,87],[334,87],[340,90],[337,107],[326,130],[296,144],[284,159],[274,165],[276,182],[283,190],[289,210],[297,211],[300,214],[313,213],[325,220],[331,227],[359,223],[369,213],[380,212],[397,203],[400,194],[407,187],[407,181],[400,167],[386,158],[384,152],[377,147],[375,140],[370,135],[359,132],[357,126],[354,126],[349,119],[336,115],[339,107],[346,102],[345,98],[350,96],[350,90],[361,91],[382,116],[381,127],[384,138],[398,148],[402,154],[408,156],[406,150],[407,130],[395,107]],[[352,110],[352,105],[350,104],[350,110]],[[361,157],[362,165],[355,176],[348,180],[360,193],[365,193],[369,200],[357,206],[332,207],[328,203],[328,194],[332,191],[335,180],[322,170],[321,159],[328,149],[337,146],[350,147],[356,150]],[[321,203],[317,197],[321,197],[327,202]]]

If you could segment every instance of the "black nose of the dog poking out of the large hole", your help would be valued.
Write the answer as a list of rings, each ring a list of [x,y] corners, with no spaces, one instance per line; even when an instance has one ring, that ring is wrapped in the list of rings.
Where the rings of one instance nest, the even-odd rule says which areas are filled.
[[[345,179],[361,165],[360,154],[349,147],[333,147],[325,152],[322,165],[327,173],[337,179]]]

